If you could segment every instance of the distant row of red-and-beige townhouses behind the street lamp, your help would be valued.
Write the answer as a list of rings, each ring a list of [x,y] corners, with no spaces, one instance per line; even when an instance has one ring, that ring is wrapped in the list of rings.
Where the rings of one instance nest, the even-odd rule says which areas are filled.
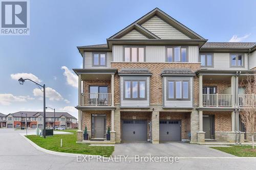
[[[2,120],[2,122],[1,122]],[[44,112],[19,111],[2,116],[0,114],[0,124],[4,128],[43,128]],[[46,127],[54,126],[54,112],[46,112]],[[55,112],[55,127],[63,127],[65,129],[77,128],[77,118],[67,112]]]

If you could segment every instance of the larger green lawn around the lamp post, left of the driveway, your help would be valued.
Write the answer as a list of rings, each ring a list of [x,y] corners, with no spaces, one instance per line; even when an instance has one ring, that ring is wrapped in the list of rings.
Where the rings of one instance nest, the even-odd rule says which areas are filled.
[[[110,156],[114,151],[114,147],[89,147],[89,144],[76,143],[76,130],[65,130],[74,134],[58,134],[49,136],[44,139],[36,135],[26,136],[39,147],[56,152],[66,152],[75,154],[101,155]],[[62,147],[60,147],[60,139],[62,139]]]

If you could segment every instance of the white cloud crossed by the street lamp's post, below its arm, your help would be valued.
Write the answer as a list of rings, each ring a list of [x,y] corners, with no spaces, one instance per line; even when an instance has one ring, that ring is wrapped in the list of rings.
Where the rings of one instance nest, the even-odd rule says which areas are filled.
[[[44,95],[42,91],[39,88],[35,88],[33,90],[34,96],[40,96],[39,99]],[[50,101],[64,101],[66,103],[69,103],[67,99],[64,99],[60,93],[58,93],[56,90],[54,90],[51,87],[46,87],[46,98],[48,98]]]

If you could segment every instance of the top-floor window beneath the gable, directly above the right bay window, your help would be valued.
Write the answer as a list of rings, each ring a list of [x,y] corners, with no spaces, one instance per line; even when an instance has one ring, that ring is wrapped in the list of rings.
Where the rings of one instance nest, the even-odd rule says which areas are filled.
[[[187,47],[185,46],[167,46],[166,62],[188,62]]]

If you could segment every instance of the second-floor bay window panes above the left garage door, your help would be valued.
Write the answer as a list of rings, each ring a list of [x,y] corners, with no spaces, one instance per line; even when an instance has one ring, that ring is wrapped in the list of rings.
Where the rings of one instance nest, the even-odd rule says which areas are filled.
[[[124,81],[125,99],[146,99],[146,82],[141,80]]]

